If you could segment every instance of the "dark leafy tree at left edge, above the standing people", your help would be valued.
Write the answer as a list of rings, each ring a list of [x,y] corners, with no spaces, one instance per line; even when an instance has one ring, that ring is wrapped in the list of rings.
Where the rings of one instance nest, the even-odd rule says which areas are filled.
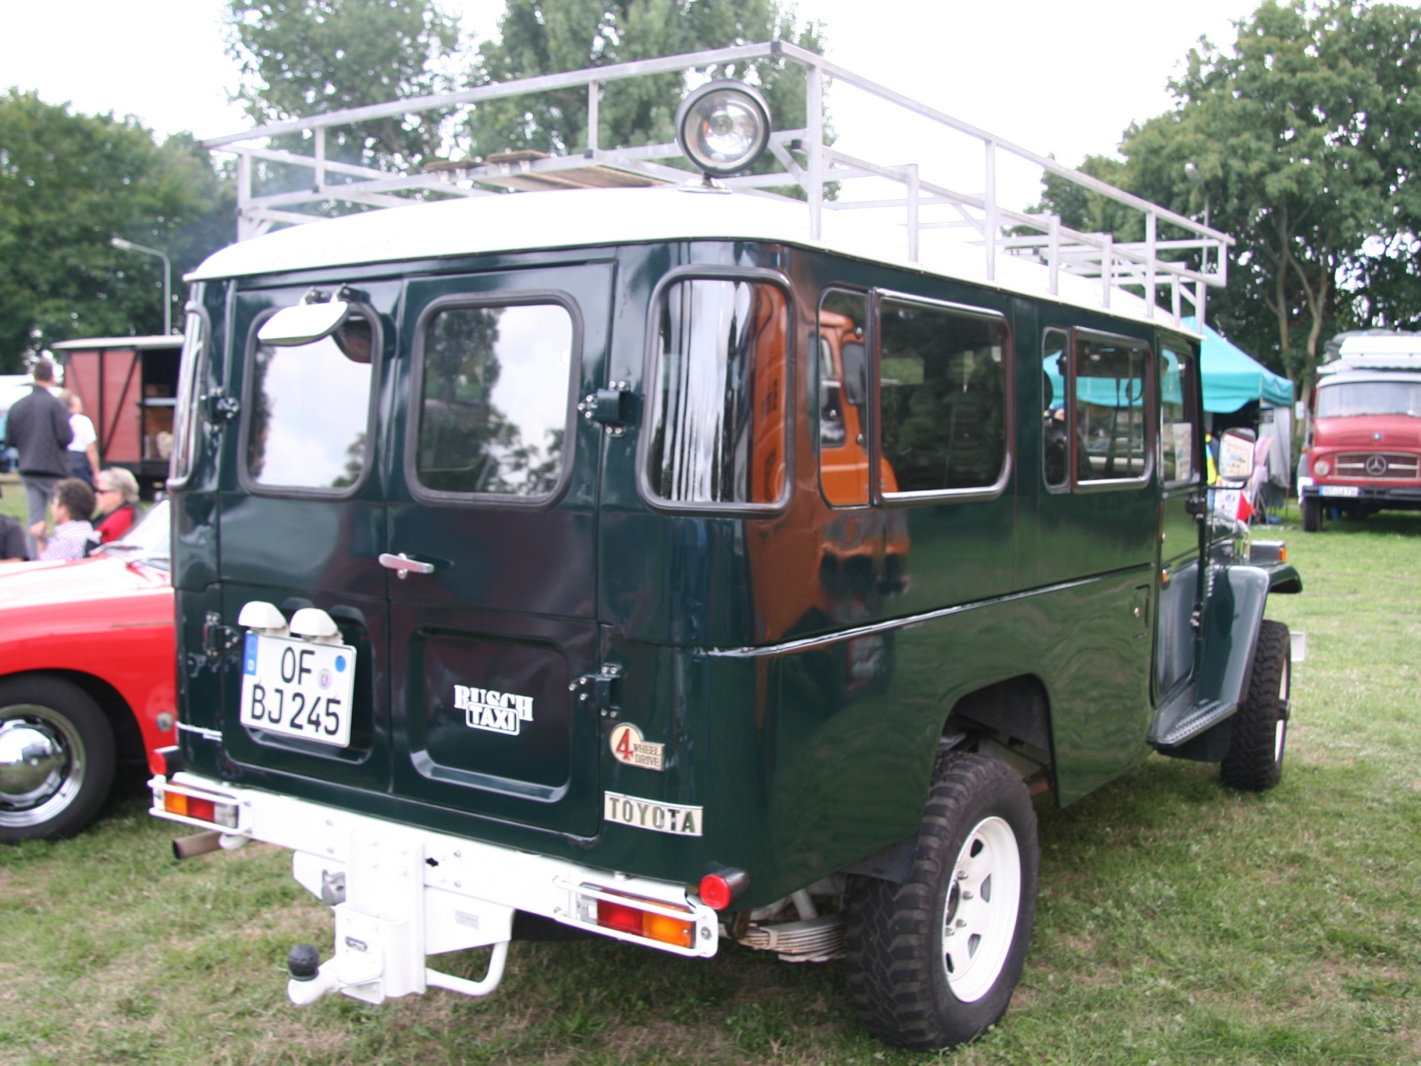
[[[182,271],[227,243],[230,183],[190,136],[156,144],[134,118],[77,115],[34,92],[0,94],[0,370],[70,337],[161,333],[162,263]]]

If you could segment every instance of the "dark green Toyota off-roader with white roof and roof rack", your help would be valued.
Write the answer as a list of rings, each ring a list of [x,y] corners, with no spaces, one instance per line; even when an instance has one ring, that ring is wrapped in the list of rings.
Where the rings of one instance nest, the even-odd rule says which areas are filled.
[[[985,198],[854,161],[816,94],[870,82],[729,51],[803,64],[807,129],[710,82],[658,146],[693,175],[595,139],[466,161],[189,279],[153,813],[203,830],[183,853],[291,849],[335,924],[297,1003],[485,995],[520,938],[735,941],[841,958],[874,1033],[949,1046],[1022,974],[1033,796],[1152,750],[1277,782],[1263,614],[1300,578],[1211,507],[1181,325],[1228,237],[1114,190],[1145,243],[999,209],[993,152],[1074,172],[990,138]],[[236,151],[247,236],[307,217]],[[905,192],[826,200],[865,175]],[[490,193],[540,181],[642,188]],[[482,981],[429,965],[485,945]]]

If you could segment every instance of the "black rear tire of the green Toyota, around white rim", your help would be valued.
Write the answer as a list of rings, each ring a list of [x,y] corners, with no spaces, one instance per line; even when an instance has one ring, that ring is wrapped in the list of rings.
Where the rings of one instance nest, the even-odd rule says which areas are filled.
[[[948,981],[944,918],[955,905],[952,884],[963,846],[973,830],[993,819],[1010,829],[1020,860],[1016,922],[995,981],[985,994],[963,1002]],[[845,967],[864,1026],[890,1043],[934,1050],[971,1040],[993,1025],[1022,976],[1039,876],[1036,812],[1016,770],[971,752],[941,756],[909,878],[904,884],[850,878]]]

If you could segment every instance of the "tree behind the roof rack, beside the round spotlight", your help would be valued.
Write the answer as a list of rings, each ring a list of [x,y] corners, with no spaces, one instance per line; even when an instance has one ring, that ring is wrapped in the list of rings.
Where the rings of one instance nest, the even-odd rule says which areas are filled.
[[[509,0],[499,33],[499,41],[479,48],[470,84],[772,38],[823,51],[821,28],[797,27],[793,11],[776,0]],[[776,128],[804,125],[806,78],[799,64],[756,60],[713,74],[756,84]],[[608,82],[598,105],[598,145],[672,141],[684,92],[679,74]],[[581,151],[587,145],[587,90],[490,101],[475,108],[465,132],[470,155],[526,148],[553,155]]]

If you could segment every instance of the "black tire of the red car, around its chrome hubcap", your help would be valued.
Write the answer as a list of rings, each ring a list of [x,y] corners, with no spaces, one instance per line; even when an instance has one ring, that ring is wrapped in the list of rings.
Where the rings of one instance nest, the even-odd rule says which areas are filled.
[[[53,795],[16,803],[13,795],[0,792],[0,843],[78,833],[98,814],[114,783],[108,718],[78,685],[40,674],[0,681],[0,729],[16,722],[37,723],[64,758],[55,760],[60,783]]]

